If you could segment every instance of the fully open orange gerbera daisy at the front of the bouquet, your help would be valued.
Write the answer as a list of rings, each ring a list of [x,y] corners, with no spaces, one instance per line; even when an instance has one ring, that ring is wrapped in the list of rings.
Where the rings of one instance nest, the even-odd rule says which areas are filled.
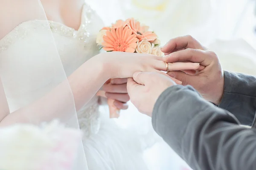
[[[111,28],[103,36],[104,42],[102,43],[105,51],[123,51],[134,53],[137,47],[137,37],[132,34],[132,29],[128,26]]]

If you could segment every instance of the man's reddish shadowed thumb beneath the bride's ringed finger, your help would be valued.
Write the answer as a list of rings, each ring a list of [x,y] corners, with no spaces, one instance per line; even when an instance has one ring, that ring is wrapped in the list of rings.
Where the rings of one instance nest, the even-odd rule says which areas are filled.
[[[190,74],[186,74],[183,71],[170,71],[167,73],[170,77],[180,80],[182,85],[196,85],[198,82],[198,76],[193,76]]]

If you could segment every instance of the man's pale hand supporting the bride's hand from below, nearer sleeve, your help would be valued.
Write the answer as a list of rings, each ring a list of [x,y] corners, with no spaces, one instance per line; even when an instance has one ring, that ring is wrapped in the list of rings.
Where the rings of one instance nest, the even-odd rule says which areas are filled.
[[[164,73],[136,72],[133,79],[128,79],[127,89],[135,107],[141,113],[151,116],[160,94],[172,85],[176,83]]]

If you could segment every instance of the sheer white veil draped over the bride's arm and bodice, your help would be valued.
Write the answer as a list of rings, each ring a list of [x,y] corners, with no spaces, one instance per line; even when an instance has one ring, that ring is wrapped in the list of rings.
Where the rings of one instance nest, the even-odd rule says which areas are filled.
[[[79,129],[73,94],[40,0],[0,0],[0,80],[0,126],[40,126],[58,119]],[[88,170],[82,142],[73,170]]]

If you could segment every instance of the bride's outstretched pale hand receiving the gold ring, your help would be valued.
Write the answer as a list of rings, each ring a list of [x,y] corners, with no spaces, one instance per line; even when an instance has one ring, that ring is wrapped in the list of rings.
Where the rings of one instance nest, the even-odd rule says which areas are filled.
[[[110,71],[111,78],[132,77],[136,71],[166,71],[166,63],[163,62],[162,57],[151,54],[115,51],[102,53],[100,59],[104,68]],[[199,66],[199,63],[175,62],[169,63],[168,69],[169,71],[197,70]]]

